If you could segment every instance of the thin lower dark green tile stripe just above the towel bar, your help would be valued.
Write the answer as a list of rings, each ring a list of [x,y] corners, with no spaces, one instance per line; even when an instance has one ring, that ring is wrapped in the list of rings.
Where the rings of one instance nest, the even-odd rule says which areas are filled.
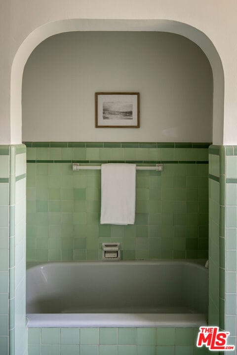
[[[183,161],[183,160],[27,160],[27,163],[81,163],[81,164],[106,164],[106,163],[128,163],[128,164],[208,164],[208,161]]]

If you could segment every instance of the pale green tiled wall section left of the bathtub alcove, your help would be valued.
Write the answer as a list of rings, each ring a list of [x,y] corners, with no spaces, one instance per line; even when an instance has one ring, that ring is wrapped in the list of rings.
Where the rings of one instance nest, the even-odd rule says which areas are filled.
[[[0,354],[26,355],[26,147],[0,146]]]

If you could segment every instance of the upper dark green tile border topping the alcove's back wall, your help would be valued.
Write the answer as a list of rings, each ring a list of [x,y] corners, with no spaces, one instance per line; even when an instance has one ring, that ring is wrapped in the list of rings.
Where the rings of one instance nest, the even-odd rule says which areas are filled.
[[[186,142],[23,142],[28,148],[209,148],[211,143]],[[214,147],[214,146],[213,146]],[[215,149],[215,148],[212,148]]]

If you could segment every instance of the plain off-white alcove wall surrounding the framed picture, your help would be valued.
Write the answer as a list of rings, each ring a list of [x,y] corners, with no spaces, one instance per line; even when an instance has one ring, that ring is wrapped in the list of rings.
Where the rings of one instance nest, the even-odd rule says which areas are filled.
[[[52,36],[25,66],[23,141],[211,142],[212,86],[207,58],[183,36]],[[97,91],[140,92],[141,128],[96,129]]]

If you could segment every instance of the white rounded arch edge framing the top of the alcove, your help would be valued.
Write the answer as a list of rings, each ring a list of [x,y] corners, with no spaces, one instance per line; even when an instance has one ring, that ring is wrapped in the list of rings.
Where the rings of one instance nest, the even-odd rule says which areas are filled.
[[[25,64],[31,52],[47,37],[71,31],[162,31],[185,36],[207,56],[213,72],[213,143],[223,144],[224,72],[211,40],[197,28],[171,20],[85,20],[70,19],[47,23],[34,30],[20,45],[12,64],[10,88],[11,143],[21,143],[21,88]]]

